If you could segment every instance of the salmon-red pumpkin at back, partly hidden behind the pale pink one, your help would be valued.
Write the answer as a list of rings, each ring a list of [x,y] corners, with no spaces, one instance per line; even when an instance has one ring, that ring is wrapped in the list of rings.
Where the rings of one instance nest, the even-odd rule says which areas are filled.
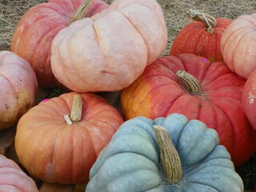
[[[54,78],[50,68],[50,49],[53,38],[66,26],[83,0],[50,0],[33,6],[22,16],[14,30],[11,50],[26,59],[34,69],[40,86],[63,86]],[[107,7],[95,0],[88,7],[88,14]]]

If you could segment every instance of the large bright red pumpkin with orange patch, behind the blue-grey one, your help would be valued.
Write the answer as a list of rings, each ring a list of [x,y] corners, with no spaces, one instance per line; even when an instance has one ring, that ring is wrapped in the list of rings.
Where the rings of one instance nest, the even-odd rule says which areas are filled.
[[[158,58],[121,92],[124,118],[179,113],[217,130],[235,166],[255,152],[256,132],[242,106],[245,80],[223,62],[194,54]]]

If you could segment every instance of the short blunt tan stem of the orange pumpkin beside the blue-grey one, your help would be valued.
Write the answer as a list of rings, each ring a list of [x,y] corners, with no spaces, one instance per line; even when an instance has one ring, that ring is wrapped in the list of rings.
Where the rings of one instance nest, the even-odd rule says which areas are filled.
[[[80,122],[82,118],[82,97],[79,94],[75,94],[73,98],[72,108],[70,116],[64,115],[66,123],[70,126],[73,122]]]

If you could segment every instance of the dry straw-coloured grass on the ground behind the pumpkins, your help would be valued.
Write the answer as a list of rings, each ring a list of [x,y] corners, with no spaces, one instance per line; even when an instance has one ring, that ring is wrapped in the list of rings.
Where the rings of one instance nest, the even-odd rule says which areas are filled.
[[[111,3],[113,0],[105,0]],[[0,0],[0,50],[8,50],[15,26],[22,15],[31,6],[46,0]],[[186,14],[188,10],[199,10],[218,18],[237,18],[242,14],[253,14],[256,12],[256,1],[254,0],[158,0],[166,18],[168,28],[168,44],[164,54],[168,54],[170,46],[178,31],[182,29],[190,19]],[[150,24],[149,24],[150,25]],[[253,190],[256,181],[256,158],[250,158],[243,166],[238,167],[247,190]]]

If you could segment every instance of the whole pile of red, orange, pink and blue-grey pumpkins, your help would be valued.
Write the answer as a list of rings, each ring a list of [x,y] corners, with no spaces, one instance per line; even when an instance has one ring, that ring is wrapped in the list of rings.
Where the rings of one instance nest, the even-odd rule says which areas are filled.
[[[156,0],[30,8],[11,51],[0,52],[0,130],[17,123],[23,168],[43,182],[87,183],[86,192],[242,192],[235,167],[256,151],[256,69],[252,38],[235,31],[246,38],[240,23],[254,14],[189,16],[195,21],[163,55],[167,28]],[[38,86],[66,93],[34,105]],[[119,110],[98,94],[114,91]],[[0,178],[10,174],[2,159]]]

